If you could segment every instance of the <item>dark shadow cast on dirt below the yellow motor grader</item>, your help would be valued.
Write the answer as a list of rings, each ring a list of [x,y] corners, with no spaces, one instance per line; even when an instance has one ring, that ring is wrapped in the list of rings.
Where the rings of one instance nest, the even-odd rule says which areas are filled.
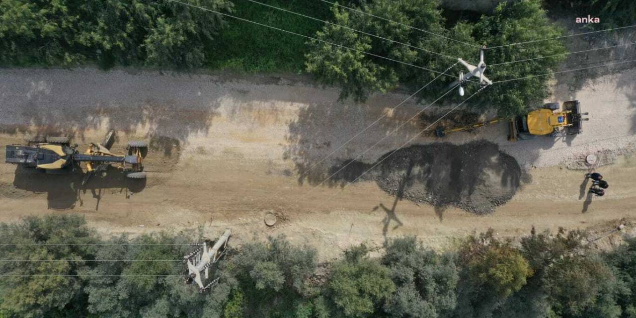
[[[90,192],[97,200],[95,211],[99,210],[101,198],[106,190],[110,193],[121,193],[129,198],[132,193],[138,193],[146,188],[146,179],[130,179],[115,167],[107,167],[101,174],[96,174],[82,185],[84,172],[75,169],[63,170],[59,174],[48,174],[36,169],[18,166],[15,170],[13,186],[20,190],[34,193],[46,193],[48,209],[74,209],[79,202],[83,205],[83,196]]]

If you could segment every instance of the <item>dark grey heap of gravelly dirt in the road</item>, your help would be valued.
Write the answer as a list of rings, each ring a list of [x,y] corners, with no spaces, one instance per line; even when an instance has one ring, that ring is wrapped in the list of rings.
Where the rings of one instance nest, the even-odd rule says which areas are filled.
[[[453,205],[475,214],[508,202],[522,176],[515,158],[487,141],[413,145],[386,153],[378,162],[359,179],[374,180],[399,198],[441,208]],[[354,181],[373,165],[349,161],[333,167],[334,182]]]

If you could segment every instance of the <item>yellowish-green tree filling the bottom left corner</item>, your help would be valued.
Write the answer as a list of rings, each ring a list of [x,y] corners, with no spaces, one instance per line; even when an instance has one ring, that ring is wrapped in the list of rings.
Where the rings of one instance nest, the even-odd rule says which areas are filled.
[[[99,242],[84,218],[27,217],[2,223],[0,241],[8,244],[0,246],[0,259],[30,260],[0,262],[7,275],[0,280],[0,312],[27,318],[83,312],[83,282],[75,275],[88,268],[85,260],[96,253],[95,246],[83,244]],[[55,259],[64,261],[46,261]]]

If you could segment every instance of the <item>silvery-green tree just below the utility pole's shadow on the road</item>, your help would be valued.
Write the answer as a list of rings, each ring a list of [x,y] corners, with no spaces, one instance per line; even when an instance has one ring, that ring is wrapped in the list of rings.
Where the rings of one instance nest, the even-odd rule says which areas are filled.
[[[445,317],[455,308],[459,275],[452,254],[425,249],[415,237],[394,239],[382,264],[397,286],[385,311],[393,317]]]

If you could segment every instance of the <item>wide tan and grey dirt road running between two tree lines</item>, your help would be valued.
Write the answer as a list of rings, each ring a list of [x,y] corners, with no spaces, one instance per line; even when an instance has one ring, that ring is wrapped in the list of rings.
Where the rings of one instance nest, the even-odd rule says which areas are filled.
[[[148,181],[141,186],[109,171],[82,188],[76,176],[34,174],[3,163],[0,221],[72,212],[84,214],[104,233],[204,225],[214,235],[231,226],[239,242],[252,234],[285,233],[319,247],[322,258],[350,244],[382,244],[385,237],[404,234],[440,246],[448,237],[488,227],[504,236],[527,233],[532,225],[611,228],[620,218],[636,217],[636,157],[629,154],[636,146],[635,79],[636,71],[626,71],[584,83],[575,92],[560,79],[554,99],[579,99],[590,113],[583,134],[573,139],[511,144],[505,124],[448,136],[445,141],[458,147],[488,142],[495,153],[516,160],[506,163],[512,168],[490,169],[499,161],[480,157],[490,167],[485,184],[501,181],[505,200],[495,202],[494,212],[477,216],[453,202],[433,207],[426,203],[433,199],[396,199],[397,190],[391,189],[400,188],[402,170],[386,182],[366,177],[347,182],[361,174],[355,167],[378,162],[419,132],[412,121],[387,137],[421,107],[407,102],[391,111],[404,95],[377,96],[356,106],[336,102],[337,90],[298,78],[6,69],[0,73],[0,144],[22,142],[25,134],[64,134],[83,148],[114,128],[118,149],[132,139],[150,141],[151,149]],[[382,114],[387,116],[377,125],[340,148]],[[412,143],[431,142],[418,137]],[[588,153],[614,162],[598,169],[611,184],[605,197],[586,197],[585,171],[564,168]],[[322,183],[334,167],[351,160],[361,164]],[[420,179],[404,177],[406,192],[419,193],[417,182],[431,176],[446,183],[440,185],[444,189],[445,176],[464,176],[462,164],[470,161],[433,165],[436,174],[422,173]],[[483,186],[481,161],[475,162],[471,182]],[[504,180],[514,180],[513,186],[504,187]],[[266,212],[279,217],[272,228],[263,223]]]

